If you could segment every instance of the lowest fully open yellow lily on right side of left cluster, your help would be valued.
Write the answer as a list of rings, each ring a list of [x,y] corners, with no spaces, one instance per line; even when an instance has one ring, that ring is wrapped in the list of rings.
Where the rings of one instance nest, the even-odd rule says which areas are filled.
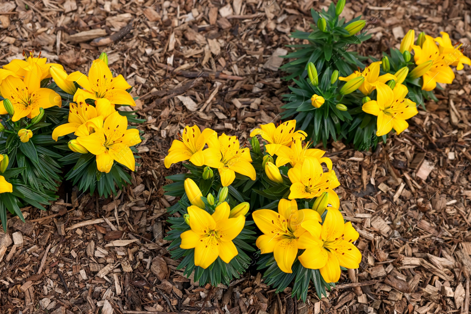
[[[113,160],[135,169],[136,161],[130,146],[141,142],[138,129],[127,129],[128,119],[115,111],[106,118],[103,128],[86,137],[78,137],[79,144],[90,153],[97,155],[97,169],[110,172]]]

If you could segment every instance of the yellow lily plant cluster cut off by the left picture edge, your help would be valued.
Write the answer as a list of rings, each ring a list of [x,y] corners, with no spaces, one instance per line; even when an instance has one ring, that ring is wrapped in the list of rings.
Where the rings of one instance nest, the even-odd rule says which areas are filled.
[[[68,75],[61,64],[48,63],[41,53],[14,59],[0,69],[0,219],[7,226],[7,209],[24,220],[20,208],[44,209],[65,175],[80,189],[100,195],[130,182],[123,167],[135,169],[130,147],[140,142],[134,112],[116,111],[135,105],[131,86],[114,76],[102,54],[86,76]],[[66,135],[68,135],[66,139]],[[92,158],[95,157],[95,159]],[[89,164],[93,163],[93,168]],[[123,167],[122,167],[123,166]],[[88,167],[88,168],[87,168]],[[102,180],[101,173],[108,174]]]

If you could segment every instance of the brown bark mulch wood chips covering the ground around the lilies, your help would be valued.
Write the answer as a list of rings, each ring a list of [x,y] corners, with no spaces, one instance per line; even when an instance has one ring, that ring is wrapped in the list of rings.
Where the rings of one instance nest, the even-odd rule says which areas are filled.
[[[0,313],[468,313],[471,272],[471,71],[437,91],[410,127],[376,150],[329,143],[341,209],[360,233],[361,267],[343,272],[326,298],[274,294],[255,266],[229,287],[182,276],[163,240],[163,158],[185,125],[243,142],[279,120],[289,93],[277,67],[309,30],[311,7],[329,0],[16,0],[0,3],[0,62],[42,51],[68,72],[87,72],[101,51],[135,86],[145,140],[132,185],[110,199],[64,184],[48,211],[22,209],[0,235]],[[349,1],[372,39],[357,50],[380,58],[409,28],[450,33],[470,56],[470,0]],[[232,43],[228,46],[229,43]],[[230,47],[230,48],[227,48]],[[318,146],[322,147],[322,146]],[[100,312],[101,311],[101,312]]]

